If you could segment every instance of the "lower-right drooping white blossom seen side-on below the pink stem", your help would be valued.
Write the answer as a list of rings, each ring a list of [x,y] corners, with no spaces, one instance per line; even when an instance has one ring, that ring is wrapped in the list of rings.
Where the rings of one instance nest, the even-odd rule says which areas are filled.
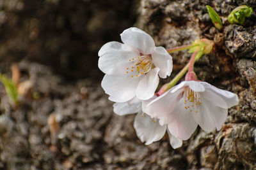
[[[143,107],[159,124],[168,125],[169,131],[182,140],[189,139],[197,125],[204,131],[220,131],[228,108],[236,106],[236,94],[218,89],[203,81],[182,81]]]

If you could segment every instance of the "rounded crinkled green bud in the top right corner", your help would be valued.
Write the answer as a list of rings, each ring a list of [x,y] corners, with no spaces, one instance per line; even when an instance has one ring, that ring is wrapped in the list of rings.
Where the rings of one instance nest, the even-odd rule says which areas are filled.
[[[231,24],[244,24],[245,17],[250,17],[252,11],[252,8],[249,8],[246,5],[238,6],[230,13],[230,15],[228,15],[228,21]]]

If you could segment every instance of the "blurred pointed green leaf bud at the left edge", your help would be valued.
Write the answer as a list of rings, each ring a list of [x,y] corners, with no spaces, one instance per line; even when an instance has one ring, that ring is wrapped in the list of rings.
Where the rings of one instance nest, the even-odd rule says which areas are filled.
[[[17,103],[18,101],[18,92],[17,88],[14,85],[12,79],[6,78],[3,74],[0,74],[0,81],[3,83],[4,88],[6,90],[6,94],[9,96],[9,98],[13,101],[13,103]]]

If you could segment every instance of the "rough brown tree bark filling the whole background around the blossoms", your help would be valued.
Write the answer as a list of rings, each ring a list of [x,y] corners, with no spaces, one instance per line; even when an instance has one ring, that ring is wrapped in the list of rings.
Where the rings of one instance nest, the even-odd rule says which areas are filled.
[[[21,81],[31,83],[16,107],[0,85],[0,169],[255,169],[256,16],[254,11],[243,25],[230,25],[227,15],[242,4],[255,9],[256,1],[138,2],[135,25],[158,46],[214,40],[216,51],[196,62],[195,72],[239,96],[221,131],[198,127],[177,150],[167,136],[141,143],[134,115],[115,115],[100,82],[92,79],[99,75],[97,50],[118,41],[135,11],[126,1],[104,2],[0,0],[0,71],[10,75],[10,64],[18,62]],[[206,4],[225,22],[223,30],[213,27]],[[172,56],[169,80],[191,54]]]

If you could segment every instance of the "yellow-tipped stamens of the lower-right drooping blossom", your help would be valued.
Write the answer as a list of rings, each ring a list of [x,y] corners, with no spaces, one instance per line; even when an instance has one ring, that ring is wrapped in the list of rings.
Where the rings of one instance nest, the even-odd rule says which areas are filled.
[[[198,113],[198,106],[201,104],[200,93],[194,92],[190,88],[184,91],[184,108],[190,112]]]

